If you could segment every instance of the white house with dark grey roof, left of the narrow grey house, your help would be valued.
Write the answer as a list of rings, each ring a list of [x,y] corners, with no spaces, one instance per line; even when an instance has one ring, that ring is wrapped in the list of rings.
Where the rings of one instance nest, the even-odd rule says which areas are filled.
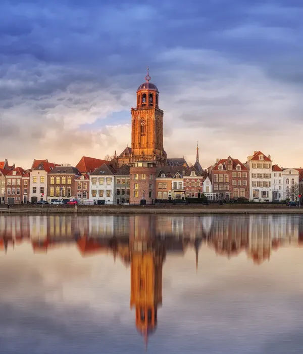
[[[89,199],[94,204],[114,204],[114,169],[103,164],[89,175]]]

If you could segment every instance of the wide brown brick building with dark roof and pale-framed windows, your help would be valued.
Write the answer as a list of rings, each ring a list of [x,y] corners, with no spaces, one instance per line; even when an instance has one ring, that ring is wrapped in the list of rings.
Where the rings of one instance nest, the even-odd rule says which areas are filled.
[[[76,167],[55,167],[47,174],[47,200],[76,197],[75,180],[80,175]]]

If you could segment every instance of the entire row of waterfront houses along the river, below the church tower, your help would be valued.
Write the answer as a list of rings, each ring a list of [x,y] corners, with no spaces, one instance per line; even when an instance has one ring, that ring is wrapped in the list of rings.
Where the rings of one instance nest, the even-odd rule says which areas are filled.
[[[128,148],[130,149],[130,148]],[[94,204],[139,203],[142,199],[209,200],[245,198],[256,202],[297,200],[303,183],[303,169],[273,165],[270,155],[255,151],[242,163],[227,157],[203,169],[196,162],[182,161],[157,166],[136,162],[118,166],[112,161],[83,156],[74,167],[34,160],[24,170],[0,161],[0,201],[28,203],[76,198]]]

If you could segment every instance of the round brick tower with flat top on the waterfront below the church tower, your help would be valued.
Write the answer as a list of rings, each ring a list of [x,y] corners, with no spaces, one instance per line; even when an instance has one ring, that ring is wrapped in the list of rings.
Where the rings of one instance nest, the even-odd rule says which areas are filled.
[[[136,161],[130,165],[130,203],[152,204],[156,191],[156,162]]]

